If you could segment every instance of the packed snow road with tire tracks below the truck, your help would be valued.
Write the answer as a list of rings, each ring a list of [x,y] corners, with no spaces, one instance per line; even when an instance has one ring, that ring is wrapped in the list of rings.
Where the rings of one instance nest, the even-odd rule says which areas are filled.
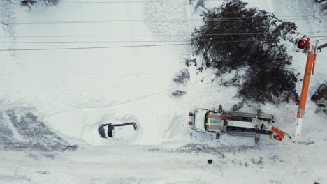
[[[323,145],[319,145],[323,146]],[[1,183],[314,183],[326,181],[324,153],[296,146],[106,146],[66,153],[1,151]],[[316,149],[309,144],[307,149]],[[289,162],[293,157],[299,158]],[[208,159],[212,164],[208,164]],[[13,164],[13,160],[17,160]],[[321,169],[316,169],[321,168]],[[305,176],[305,177],[303,177]]]

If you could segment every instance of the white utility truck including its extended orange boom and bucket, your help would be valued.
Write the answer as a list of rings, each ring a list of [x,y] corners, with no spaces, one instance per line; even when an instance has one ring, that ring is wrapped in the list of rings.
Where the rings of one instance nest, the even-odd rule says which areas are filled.
[[[219,139],[222,133],[227,133],[229,135],[255,137],[256,143],[259,141],[260,135],[268,135],[269,138],[274,137],[274,139],[277,139],[278,141],[282,141],[282,139],[289,141],[291,140],[293,142],[299,141],[302,132],[302,122],[305,114],[305,105],[307,102],[310,77],[311,75],[314,75],[317,53],[321,52],[321,49],[327,47],[327,43],[318,46],[318,40],[316,41],[315,45],[310,45],[310,38],[307,38],[305,42],[300,44],[300,41],[304,38],[305,36],[302,38],[297,38],[294,43],[296,52],[303,52],[307,54],[307,63],[305,66],[300,102],[296,116],[295,133],[288,134],[273,126],[275,119],[272,114],[252,114],[233,111],[224,112],[222,111],[221,105],[219,105],[218,110],[196,109],[194,113],[190,112],[189,116],[191,117],[191,121],[189,121],[189,125],[192,125],[192,129],[196,130],[197,132],[216,133],[217,139]],[[323,107],[326,107],[326,98],[324,97],[326,92],[324,91],[325,88],[326,86],[321,85],[321,87],[319,87],[317,99],[316,97],[313,99],[314,101],[317,100],[317,103],[319,100],[319,105],[324,105]]]

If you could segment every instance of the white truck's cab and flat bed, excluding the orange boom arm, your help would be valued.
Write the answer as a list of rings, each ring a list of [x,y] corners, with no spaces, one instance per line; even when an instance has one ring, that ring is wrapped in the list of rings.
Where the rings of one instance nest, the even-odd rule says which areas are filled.
[[[216,133],[216,139],[226,133],[228,135],[254,137],[259,141],[260,135],[273,137],[272,123],[275,122],[273,114],[253,114],[246,112],[224,112],[221,105],[219,109],[196,109],[189,116],[192,129],[197,132]]]

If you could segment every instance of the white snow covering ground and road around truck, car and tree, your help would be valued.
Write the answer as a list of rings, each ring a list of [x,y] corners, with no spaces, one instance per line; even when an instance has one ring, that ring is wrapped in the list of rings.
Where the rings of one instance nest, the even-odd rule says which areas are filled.
[[[18,1],[1,0],[0,49],[36,49],[0,51],[1,112],[32,109],[79,147],[64,152],[0,150],[1,184],[327,183],[326,114],[314,114],[317,107],[310,100],[299,144],[270,139],[254,144],[252,138],[228,135],[218,141],[187,125],[187,114],[195,108],[221,104],[230,109],[238,102],[233,87],[211,82],[213,71],[197,74],[194,66],[184,65],[191,55],[188,45],[173,45],[188,43],[194,27],[201,25],[201,8],[194,11],[187,0],[101,1],[61,0],[29,10]],[[326,36],[326,16],[316,12],[319,19],[312,18],[319,8],[313,1],[248,2],[277,17],[292,16],[289,21],[296,23],[299,36]],[[212,8],[220,3],[204,4]],[[288,44],[293,56],[289,67],[300,72],[300,93],[306,56],[292,52]],[[80,47],[110,48],[43,50]],[[327,80],[326,58],[326,50],[317,56],[309,96]],[[173,78],[184,68],[189,82],[176,84]],[[171,95],[176,89],[187,93],[177,98]],[[260,108],[275,114],[277,127],[294,132],[297,105],[253,106],[242,111]],[[99,137],[101,123],[126,121],[138,123],[135,139]]]

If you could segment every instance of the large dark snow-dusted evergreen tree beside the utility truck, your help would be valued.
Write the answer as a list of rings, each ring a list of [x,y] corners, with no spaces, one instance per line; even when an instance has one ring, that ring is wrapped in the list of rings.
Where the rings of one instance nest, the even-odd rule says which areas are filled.
[[[204,60],[200,65],[196,63],[198,70],[216,68],[221,75],[247,66],[240,97],[262,103],[297,102],[296,76],[285,69],[292,57],[281,43],[293,42],[296,25],[246,6],[239,0],[224,1],[219,8],[203,14],[204,24],[195,29],[191,39],[195,54],[201,54]]]

